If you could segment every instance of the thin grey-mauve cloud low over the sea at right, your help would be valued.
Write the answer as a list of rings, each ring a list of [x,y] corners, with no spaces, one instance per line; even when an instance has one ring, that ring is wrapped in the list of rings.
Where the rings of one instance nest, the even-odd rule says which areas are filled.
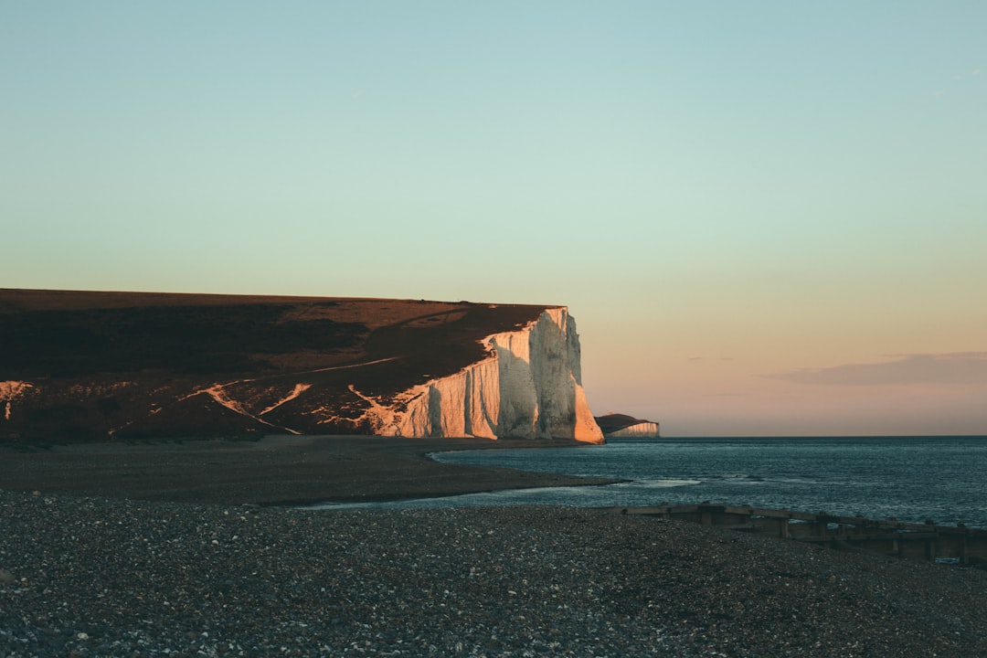
[[[905,354],[885,363],[800,369],[768,378],[823,386],[987,385],[987,352]]]

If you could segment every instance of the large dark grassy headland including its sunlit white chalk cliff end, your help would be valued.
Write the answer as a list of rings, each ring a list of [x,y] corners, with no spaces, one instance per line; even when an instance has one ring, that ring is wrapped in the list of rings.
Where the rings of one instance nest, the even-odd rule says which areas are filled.
[[[604,442],[566,307],[0,288],[0,310],[17,355],[0,363],[0,440]]]

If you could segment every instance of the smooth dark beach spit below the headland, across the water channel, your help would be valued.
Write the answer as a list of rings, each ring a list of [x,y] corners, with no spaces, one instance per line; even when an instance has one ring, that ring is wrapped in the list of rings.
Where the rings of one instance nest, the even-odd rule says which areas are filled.
[[[502,489],[622,481],[440,464],[430,453],[582,446],[576,441],[266,436],[0,446],[0,488],[174,502],[304,505],[386,502]]]

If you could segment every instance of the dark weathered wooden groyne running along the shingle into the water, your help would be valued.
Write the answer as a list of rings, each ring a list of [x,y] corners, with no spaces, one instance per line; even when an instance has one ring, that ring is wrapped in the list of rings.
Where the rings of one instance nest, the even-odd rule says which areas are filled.
[[[937,526],[931,521],[899,523],[895,519],[874,520],[825,512],[812,514],[706,502],[612,507],[605,511],[691,521],[842,550],[867,550],[906,559],[987,566],[987,530],[963,525]]]

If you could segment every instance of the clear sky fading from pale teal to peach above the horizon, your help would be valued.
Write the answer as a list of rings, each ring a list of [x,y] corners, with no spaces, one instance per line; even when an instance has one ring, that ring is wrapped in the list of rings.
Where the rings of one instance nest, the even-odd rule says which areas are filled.
[[[667,436],[987,434],[985,25],[0,0],[0,287],[566,305]]]

